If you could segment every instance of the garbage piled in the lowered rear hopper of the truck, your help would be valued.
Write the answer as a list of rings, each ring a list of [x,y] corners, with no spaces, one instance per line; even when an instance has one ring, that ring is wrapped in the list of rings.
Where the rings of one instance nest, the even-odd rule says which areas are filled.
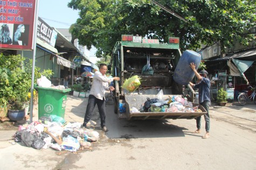
[[[125,111],[123,108],[125,105],[120,104],[120,112]],[[132,107],[130,112],[202,112],[198,108],[198,105],[194,105],[189,102],[187,98],[180,96],[169,96],[169,98],[163,99],[163,91],[157,94],[157,98],[147,98],[144,104],[140,105],[140,108]]]

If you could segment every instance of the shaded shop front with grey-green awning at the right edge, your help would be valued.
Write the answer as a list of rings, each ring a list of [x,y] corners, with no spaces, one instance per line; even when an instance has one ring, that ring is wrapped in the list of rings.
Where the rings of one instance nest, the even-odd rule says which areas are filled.
[[[211,97],[217,99],[217,91],[224,88],[227,98],[237,100],[239,93],[247,91],[248,86],[256,85],[256,49],[227,55],[224,58],[206,61],[211,80]],[[248,91],[250,95],[251,91]]]

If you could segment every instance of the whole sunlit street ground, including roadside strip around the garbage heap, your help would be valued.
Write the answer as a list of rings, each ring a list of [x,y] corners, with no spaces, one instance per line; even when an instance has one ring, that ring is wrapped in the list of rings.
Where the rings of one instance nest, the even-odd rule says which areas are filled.
[[[68,96],[65,120],[81,122],[88,98]],[[93,129],[100,139],[92,151],[35,150],[19,144],[0,147],[1,169],[256,169],[256,105],[210,108],[211,137],[195,119],[119,120],[110,97],[102,132],[95,107]],[[36,119],[36,117],[35,117]]]

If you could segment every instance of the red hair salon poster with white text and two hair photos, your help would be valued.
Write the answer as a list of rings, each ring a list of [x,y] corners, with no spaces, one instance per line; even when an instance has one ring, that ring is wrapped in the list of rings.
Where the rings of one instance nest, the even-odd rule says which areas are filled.
[[[36,0],[0,1],[0,48],[31,50]]]

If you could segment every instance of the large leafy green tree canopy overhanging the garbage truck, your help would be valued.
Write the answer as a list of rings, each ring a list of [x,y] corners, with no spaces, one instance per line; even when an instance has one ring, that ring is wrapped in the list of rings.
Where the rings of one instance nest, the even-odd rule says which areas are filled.
[[[95,46],[96,56],[112,53],[121,34],[139,34],[167,42],[179,37],[182,51],[200,44],[220,42],[222,52],[238,40],[248,45],[249,32],[256,23],[256,3],[251,0],[160,0],[157,1],[185,18],[171,15],[152,0],[72,0],[68,7],[80,10],[71,33],[88,49]]]

